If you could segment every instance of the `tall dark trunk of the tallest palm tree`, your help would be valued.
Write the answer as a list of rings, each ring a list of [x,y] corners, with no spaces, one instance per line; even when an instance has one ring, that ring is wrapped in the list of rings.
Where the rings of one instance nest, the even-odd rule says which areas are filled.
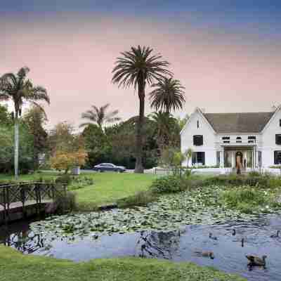
[[[145,83],[138,83],[138,98],[140,100],[140,111],[138,123],[136,124],[136,166],[135,173],[143,173],[143,122],[145,117]]]

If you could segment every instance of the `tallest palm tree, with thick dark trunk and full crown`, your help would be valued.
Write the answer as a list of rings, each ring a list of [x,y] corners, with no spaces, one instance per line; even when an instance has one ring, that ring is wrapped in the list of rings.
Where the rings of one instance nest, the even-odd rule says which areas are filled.
[[[145,86],[153,81],[171,75],[167,69],[169,63],[162,60],[162,55],[152,55],[153,49],[146,46],[131,47],[122,52],[112,70],[112,82],[129,88],[138,89],[139,115],[136,126],[136,166],[135,173],[143,173],[143,122],[145,116]]]

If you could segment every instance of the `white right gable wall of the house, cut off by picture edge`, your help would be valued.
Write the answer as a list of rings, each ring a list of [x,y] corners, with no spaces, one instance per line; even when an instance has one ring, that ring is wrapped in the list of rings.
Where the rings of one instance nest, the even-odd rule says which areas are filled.
[[[261,134],[261,147],[259,150],[262,153],[263,167],[274,165],[274,151],[281,150],[281,145],[276,145],[275,143],[275,134],[281,134],[280,119],[281,111],[278,110]]]

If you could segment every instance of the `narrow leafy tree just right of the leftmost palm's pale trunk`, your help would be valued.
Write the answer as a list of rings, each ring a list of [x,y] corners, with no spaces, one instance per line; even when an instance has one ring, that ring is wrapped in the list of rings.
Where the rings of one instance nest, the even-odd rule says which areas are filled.
[[[30,134],[33,136],[33,162],[34,169],[39,167],[39,155],[48,148],[48,133],[44,129],[47,122],[45,112],[40,107],[32,106],[24,115],[23,120],[27,124]]]

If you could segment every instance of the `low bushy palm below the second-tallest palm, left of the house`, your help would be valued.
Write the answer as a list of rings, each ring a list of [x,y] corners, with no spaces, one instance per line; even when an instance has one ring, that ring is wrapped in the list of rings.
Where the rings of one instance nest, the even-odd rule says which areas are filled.
[[[176,119],[169,112],[153,112],[149,115],[155,123],[155,136],[160,153],[169,147],[173,141],[173,134],[178,126]],[[176,131],[178,133],[178,131]]]

